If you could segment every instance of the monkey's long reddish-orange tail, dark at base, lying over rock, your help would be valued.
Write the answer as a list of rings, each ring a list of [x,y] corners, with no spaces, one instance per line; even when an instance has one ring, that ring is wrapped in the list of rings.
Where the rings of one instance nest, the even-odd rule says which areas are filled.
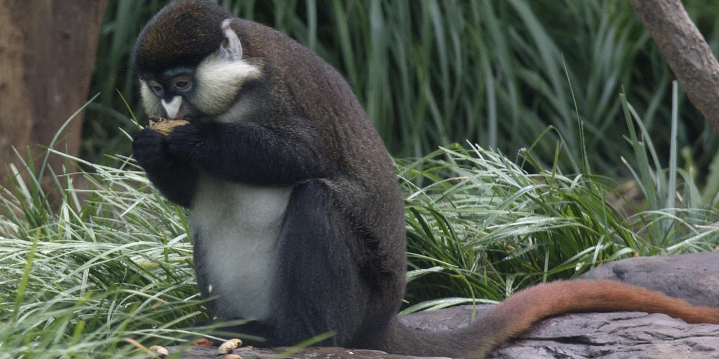
[[[719,324],[719,307],[700,307],[641,286],[608,280],[553,281],[524,289],[468,327],[420,332],[394,323],[382,349],[408,355],[485,358],[498,345],[533,323],[577,312],[664,313],[688,323]]]

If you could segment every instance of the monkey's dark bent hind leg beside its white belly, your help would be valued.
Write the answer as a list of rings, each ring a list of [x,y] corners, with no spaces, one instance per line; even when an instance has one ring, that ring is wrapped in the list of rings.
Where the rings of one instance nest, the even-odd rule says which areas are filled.
[[[278,240],[271,345],[334,335],[321,345],[347,345],[362,327],[370,289],[357,268],[356,235],[324,183],[293,190]]]

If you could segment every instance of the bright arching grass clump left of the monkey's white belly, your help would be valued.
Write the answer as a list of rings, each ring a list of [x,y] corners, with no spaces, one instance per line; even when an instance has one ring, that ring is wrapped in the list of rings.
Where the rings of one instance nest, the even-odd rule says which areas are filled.
[[[143,346],[193,337],[201,328],[191,323],[208,319],[186,217],[148,190],[129,159],[114,160],[123,165],[58,175],[57,207],[40,177],[10,166],[17,181],[1,193],[0,358],[145,355]]]

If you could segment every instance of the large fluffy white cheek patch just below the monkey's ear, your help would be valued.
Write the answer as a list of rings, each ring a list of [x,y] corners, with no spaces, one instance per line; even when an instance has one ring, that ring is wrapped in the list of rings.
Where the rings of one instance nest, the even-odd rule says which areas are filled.
[[[232,104],[242,84],[260,78],[259,67],[244,60],[226,60],[218,54],[210,55],[197,66],[197,90],[192,103],[202,113],[216,115]]]

